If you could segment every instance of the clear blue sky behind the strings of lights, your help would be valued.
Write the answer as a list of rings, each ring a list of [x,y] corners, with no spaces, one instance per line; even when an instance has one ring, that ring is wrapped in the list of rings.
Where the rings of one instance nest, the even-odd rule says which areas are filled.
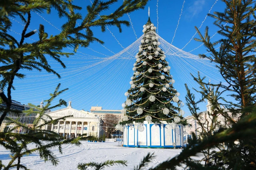
[[[192,36],[195,34],[194,26],[199,27],[201,25],[206,17],[206,14],[209,12],[215,1],[216,0],[187,0],[184,3],[179,26],[177,28],[176,35],[172,43],[175,47],[181,49],[185,46],[185,44],[190,41]],[[110,10],[104,11],[104,13],[102,14],[109,14],[110,11],[115,10],[121,4],[121,2],[122,1],[111,6]],[[91,4],[90,1],[75,0],[74,3],[83,7],[83,10],[81,10],[80,13],[85,16],[87,13],[86,6]],[[158,34],[167,42],[171,43],[174,36],[174,31],[177,27],[179,16],[181,14],[182,4],[183,0],[159,0],[158,23],[156,0],[149,1],[144,10],[138,10],[129,14],[137,38],[139,38],[143,34],[142,26],[147,22],[148,7],[150,7],[151,22],[153,22],[155,26],[157,26],[158,24]],[[223,11],[224,7],[225,6],[223,2],[219,0],[213,6],[213,9],[210,13],[212,14],[214,11]],[[32,18],[29,28],[31,28],[32,30],[38,29],[39,24],[43,24],[45,26],[45,31],[49,35],[58,34],[60,32],[58,29],[61,29],[61,25],[65,23],[65,18],[59,19],[58,15],[54,10],[50,15],[47,15],[46,13],[39,14],[42,17],[34,12],[32,12],[31,14]],[[15,19],[21,22],[19,18]],[[124,15],[122,19],[129,20],[127,15]],[[207,17],[200,30],[203,32],[205,27],[209,26],[209,35],[215,34],[215,32],[219,29],[213,25],[213,22],[213,18]],[[131,26],[123,26],[123,32],[119,33],[116,27],[109,27],[110,31],[124,48],[128,47],[136,40],[133,28]],[[13,20],[13,27],[11,29],[11,34],[19,40],[19,34],[21,34],[22,32],[23,26]],[[93,28],[93,31],[95,37],[103,40],[105,42],[104,46],[113,53],[118,53],[119,51],[123,50],[121,45],[118,44],[117,40],[115,40],[113,35],[108,30],[102,33],[100,28]],[[195,37],[197,37],[197,35]],[[218,35],[215,35],[212,40],[217,40],[219,38],[220,37]],[[26,39],[26,42],[34,42],[33,40],[38,40],[38,35],[35,34],[31,36],[30,39]],[[189,52],[194,48],[198,47],[200,44],[201,43],[192,40],[183,50]],[[52,59],[49,58],[50,63],[52,63],[52,67],[61,74],[62,79],[60,80],[58,80],[56,76],[47,74],[44,71],[21,71],[27,76],[23,80],[15,80],[14,86],[17,89],[12,92],[13,99],[23,104],[39,104],[42,99],[45,100],[49,98],[49,93],[53,92],[57,84],[60,82],[62,84],[62,88],[69,88],[69,90],[61,96],[61,98],[65,99],[66,101],[71,98],[72,106],[75,109],[90,110],[91,106],[96,105],[102,106],[103,109],[122,109],[121,104],[126,99],[124,93],[130,88],[129,81],[130,77],[133,75],[133,71],[131,68],[133,67],[135,58],[134,61],[114,60],[111,62],[98,63],[107,56],[113,55],[113,53],[106,48],[102,47],[96,42],[90,44],[89,48],[79,48],[79,52],[74,55],[74,57],[71,57],[70,59],[63,58],[63,61],[67,65],[67,69],[61,69],[60,65],[55,64],[55,62],[51,61]],[[70,49],[65,50],[71,52]],[[136,50],[138,51],[138,49]],[[198,49],[192,51],[191,53],[194,55],[198,55],[199,53],[205,52],[205,47],[201,46]],[[95,59],[95,57],[101,57],[102,59],[98,60]],[[180,62],[182,63],[184,61],[181,60]],[[176,68],[176,70],[174,71],[171,69],[171,73],[173,74],[173,77],[176,77],[174,87],[177,88],[182,94],[180,99],[185,102],[186,92],[184,83],[189,84],[191,88],[197,88],[197,86],[194,84],[191,76],[187,73],[185,74],[185,72],[182,77],[182,81],[179,81],[181,80],[179,78],[180,74],[176,75],[175,73],[183,72],[183,68],[181,65],[177,63],[176,67],[172,68]],[[85,66],[87,66],[87,68],[85,68]],[[211,73],[211,70],[207,66],[200,67]],[[186,69],[189,70],[193,68],[190,68],[189,66]],[[213,81],[215,82],[219,81],[214,80],[214,76],[212,76],[211,79],[213,79]],[[200,105],[201,111],[206,110],[206,104],[207,103],[202,103]],[[186,112],[186,115],[190,115],[189,110],[184,110]]]

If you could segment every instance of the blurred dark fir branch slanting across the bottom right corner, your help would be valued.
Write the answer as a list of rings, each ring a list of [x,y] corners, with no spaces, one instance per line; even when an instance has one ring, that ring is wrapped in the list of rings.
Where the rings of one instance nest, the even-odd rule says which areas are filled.
[[[228,128],[223,131],[218,131],[214,135],[209,136],[209,138],[202,140],[201,143],[196,144],[196,140],[192,140],[190,145],[185,147],[183,151],[173,157],[170,160],[164,161],[163,163],[157,165],[155,168],[151,168],[152,170],[161,170],[161,169],[179,169],[179,167],[190,167],[192,169],[226,169],[225,166],[222,167],[204,167],[202,164],[194,163],[193,160],[190,159],[190,156],[195,156],[198,153],[202,152],[207,148],[212,148],[219,143],[234,143],[235,140],[250,140],[251,136],[256,135],[256,107],[250,107],[243,110],[244,112],[251,112],[251,114],[247,115],[243,119],[240,119],[233,127]],[[195,135],[193,136],[195,139]],[[237,162],[233,162],[235,165],[239,165],[243,160],[237,160]],[[240,169],[240,168],[238,168]],[[245,167],[245,169],[252,169],[252,167]]]

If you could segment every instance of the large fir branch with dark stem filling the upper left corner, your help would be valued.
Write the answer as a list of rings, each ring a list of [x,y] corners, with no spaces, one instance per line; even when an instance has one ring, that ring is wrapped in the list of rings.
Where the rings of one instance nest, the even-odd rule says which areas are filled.
[[[69,57],[73,53],[62,52],[63,48],[71,47],[76,52],[80,46],[87,47],[93,41],[102,44],[103,41],[94,37],[92,27],[101,27],[101,31],[104,32],[106,26],[116,26],[122,32],[121,25],[129,26],[129,22],[119,18],[124,14],[143,9],[148,0],[123,1],[122,5],[114,12],[110,11],[109,15],[101,15],[98,18],[102,11],[109,10],[110,6],[117,1],[102,2],[94,0],[91,6],[87,6],[87,15],[84,18],[81,14],[75,12],[82,10],[82,7],[75,6],[72,0],[0,1],[0,77],[2,78],[0,81],[0,97],[6,103],[6,109],[0,118],[0,125],[11,108],[11,89],[15,89],[13,86],[14,78],[24,78],[25,76],[18,73],[20,69],[45,70],[61,78],[61,75],[51,68],[46,56],[50,56],[63,68],[66,68],[61,57]],[[38,41],[26,43],[25,38],[29,36],[27,28],[30,25],[31,18],[36,15],[33,12],[43,13],[46,11],[50,14],[53,9],[57,10],[59,18],[67,18],[66,23],[61,27],[61,32],[54,36],[50,33],[49,36],[45,32],[44,26],[40,24]],[[10,17],[19,17],[25,24],[20,40],[9,34],[8,30],[12,28]],[[80,23],[79,20],[82,20],[82,22]],[[7,95],[3,93],[6,88]]]

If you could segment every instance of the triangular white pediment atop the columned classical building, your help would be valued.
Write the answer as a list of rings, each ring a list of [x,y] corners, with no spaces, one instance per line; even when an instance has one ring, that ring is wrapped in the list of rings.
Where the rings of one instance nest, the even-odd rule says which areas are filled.
[[[63,116],[70,116],[76,118],[97,118],[95,114],[87,114],[85,112],[73,109],[72,107],[66,107],[64,109],[55,110],[49,113],[51,117],[63,117]]]

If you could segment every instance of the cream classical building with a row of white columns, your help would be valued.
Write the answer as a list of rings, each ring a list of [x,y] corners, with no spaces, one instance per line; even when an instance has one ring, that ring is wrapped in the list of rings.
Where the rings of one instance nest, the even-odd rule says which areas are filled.
[[[43,107],[42,103],[41,107]],[[51,111],[48,114],[53,119],[73,115],[73,117],[58,121],[56,125],[46,125],[45,129],[55,131],[61,136],[68,135],[70,137],[74,133],[75,137],[77,137],[86,133],[87,136],[100,137],[105,132],[104,122],[101,118],[88,111],[73,109],[71,101],[69,101],[69,105],[66,108]]]

